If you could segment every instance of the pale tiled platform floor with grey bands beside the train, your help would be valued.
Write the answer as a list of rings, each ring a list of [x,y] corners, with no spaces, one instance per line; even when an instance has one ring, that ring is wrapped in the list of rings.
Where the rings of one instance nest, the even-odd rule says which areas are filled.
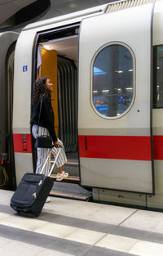
[[[12,194],[0,190],[0,255],[163,255],[163,213],[51,197],[26,218],[10,208]]]

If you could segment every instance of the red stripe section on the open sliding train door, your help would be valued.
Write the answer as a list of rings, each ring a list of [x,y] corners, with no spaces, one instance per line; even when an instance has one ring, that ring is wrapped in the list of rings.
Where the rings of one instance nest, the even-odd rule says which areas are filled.
[[[79,136],[80,157],[151,160],[150,137]]]

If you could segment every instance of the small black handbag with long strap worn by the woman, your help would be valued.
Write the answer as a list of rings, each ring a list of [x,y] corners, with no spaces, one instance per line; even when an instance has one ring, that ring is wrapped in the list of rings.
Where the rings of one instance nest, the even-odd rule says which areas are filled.
[[[39,122],[40,122],[40,116],[41,116],[41,111],[42,111],[42,101],[43,97],[40,101],[40,112],[39,112],[39,117],[38,117],[38,124],[37,124],[37,135],[38,135],[38,127],[39,127]],[[41,135],[37,136],[36,142],[35,142],[35,147],[41,147],[41,148],[51,148],[53,147],[53,138],[50,135]]]

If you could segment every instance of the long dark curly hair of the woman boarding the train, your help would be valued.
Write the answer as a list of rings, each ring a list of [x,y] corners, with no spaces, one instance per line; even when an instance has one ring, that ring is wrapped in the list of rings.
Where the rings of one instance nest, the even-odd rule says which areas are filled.
[[[33,87],[33,104],[37,104],[37,101],[41,99],[42,95],[46,92],[46,80],[48,77],[38,78],[34,82]]]

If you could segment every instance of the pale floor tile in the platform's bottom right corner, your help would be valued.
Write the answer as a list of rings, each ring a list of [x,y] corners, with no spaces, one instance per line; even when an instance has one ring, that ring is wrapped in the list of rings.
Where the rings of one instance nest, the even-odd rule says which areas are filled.
[[[146,241],[139,241],[129,251],[130,254],[136,254],[140,256],[162,256],[163,245],[150,243]]]

